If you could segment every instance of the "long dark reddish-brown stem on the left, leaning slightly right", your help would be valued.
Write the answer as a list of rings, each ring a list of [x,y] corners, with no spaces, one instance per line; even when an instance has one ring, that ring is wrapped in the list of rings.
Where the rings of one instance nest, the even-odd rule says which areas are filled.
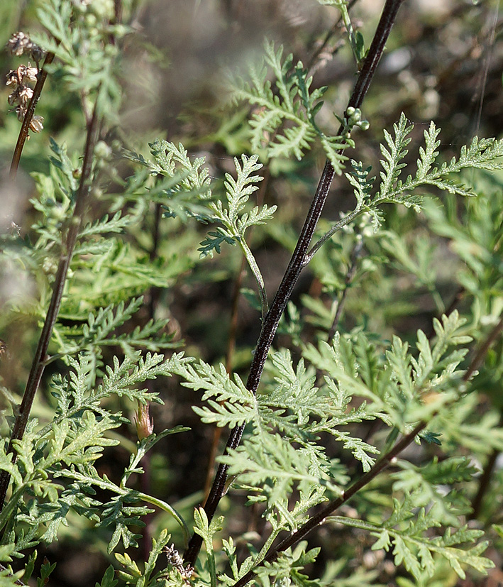
[[[35,94],[33,94],[33,98],[34,97]],[[26,383],[26,389],[23,394],[21,407],[19,408],[18,415],[16,416],[16,421],[14,422],[11,439],[9,441],[9,449],[7,449],[7,454],[13,452],[13,441],[20,440],[21,438],[23,438],[23,434],[26,429],[26,424],[28,424],[28,417],[30,415],[31,406],[35,398],[35,393],[37,393],[38,387],[40,385],[40,380],[42,379],[42,375],[45,369],[45,359],[47,356],[47,350],[52,336],[52,330],[54,329],[56,323],[57,314],[60,311],[61,300],[63,290],[65,289],[65,281],[67,278],[68,268],[72,260],[73,249],[75,246],[75,242],[77,241],[80,225],[82,224],[84,207],[87,201],[87,194],[89,193],[89,177],[91,176],[92,170],[93,152],[99,132],[99,116],[97,111],[98,102],[99,99],[98,97],[96,97],[96,103],[94,104],[94,112],[92,115],[91,123],[87,127],[86,146],[84,150],[84,163],[82,163],[82,175],[80,176],[79,188],[77,190],[77,196],[75,199],[74,213],[67,224],[67,236],[64,239],[62,246],[60,262],[57,267],[55,282],[52,288],[52,297],[50,300],[47,314],[45,315],[43,329],[40,332],[40,338],[38,339],[37,350],[35,351],[35,357],[33,358],[30,375],[28,375],[28,381]],[[28,112],[26,114],[26,117],[27,116]],[[19,156],[21,156],[21,150],[19,151]],[[13,455],[13,461],[16,461],[16,454]],[[4,502],[6,498],[7,488],[9,487],[10,478],[11,476],[9,475],[8,471],[1,471],[0,510],[4,507]]]

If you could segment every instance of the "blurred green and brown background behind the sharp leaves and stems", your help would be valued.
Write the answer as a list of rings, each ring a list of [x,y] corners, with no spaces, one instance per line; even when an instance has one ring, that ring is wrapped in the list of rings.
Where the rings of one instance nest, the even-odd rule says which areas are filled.
[[[40,4],[43,0],[2,0],[0,45],[13,32],[38,30],[35,9]],[[368,45],[383,3],[357,0],[351,4],[353,26],[363,33]],[[314,87],[328,85],[319,121],[327,131],[336,133],[338,120],[333,113],[342,114],[355,81],[355,68],[337,12],[329,6],[321,6],[316,0],[145,0],[133,6],[136,16],[132,26],[138,34],[126,38],[124,44],[118,72],[122,108],[111,138],[119,137],[126,147],[145,157],[149,155],[148,143],[155,138],[175,144],[182,141],[191,158],[206,157],[212,179],[221,185],[223,174],[233,170],[233,157],[250,153],[246,122],[249,109],[243,104],[231,104],[224,83],[226,75],[229,68],[244,71],[247,62],[260,58],[265,37],[283,43],[285,53],[294,54],[294,62],[302,60],[310,68]],[[416,158],[415,145],[421,142],[431,119],[442,129],[440,150],[445,160],[458,153],[460,146],[475,134],[501,137],[503,43],[498,9],[499,2],[490,0],[405,1],[363,104],[370,130],[355,133],[357,146],[348,155],[372,165],[377,172],[382,129],[390,128],[401,111],[415,124],[411,163]],[[17,57],[0,53],[2,78],[19,62]],[[8,94],[5,88],[4,108],[0,109],[0,179],[6,177],[20,126],[7,104]],[[85,133],[79,99],[64,91],[57,76],[49,77],[37,114],[44,116],[45,128],[40,135],[31,137],[24,150],[20,189],[13,194],[6,182],[0,181],[4,230],[15,222],[26,232],[33,223],[33,207],[28,201],[35,194],[33,173],[48,171],[50,137],[66,143],[69,153],[82,153]],[[267,163],[264,153],[261,156]],[[114,165],[122,180],[131,175],[131,168],[123,160],[116,160]],[[276,204],[278,210],[274,222],[263,231],[253,232],[251,247],[270,297],[282,278],[323,165],[324,154],[314,148],[302,162],[275,160],[265,168],[265,180],[257,197],[268,205]],[[357,333],[358,329],[366,329],[384,338],[399,334],[412,340],[416,329],[429,333],[433,317],[456,308],[468,317],[467,331],[482,339],[503,309],[503,176],[480,173],[470,180],[480,194],[476,199],[432,194],[437,199],[431,199],[419,216],[411,210],[389,207],[385,225],[377,234],[360,223],[336,235],[302,273],[276,346],[289,346],[298,358],[302,345],[326,338],[341,300],[337,324],[341,331]],[[112,176],[105,177],[95,196],[99,217],[105,202],[120,198],[121,183]],[[320,231],[352,207],[353,192],[344,177],[337,177]],[[213,259],[200,260],[197,246],[203,229],[190,222],[164,221],[156,206],[144,212],[143,221],[128,241],[138,255],[143,251],[160,259],[160,280],[139,288],[145,292],[145,305],[138,322],[150,317],[170,319],[167,331],[174,344],[205,361],[226,363],[245,377],[260,319],[253,295],[247,294],[254,288],[253,278],[244,272],[239,251],[228,247]],[[177,263],[176,267],[169,265],[170,259]],[[11,307],[15,298],[16,305],[29,307],[36,297],[37,285],[6,265],[2,265],[2,273],[0,305]],[[81,283],[79,287],[92,289],[92,285]],[[241,295],[236,295],[236,287],[243,288]],[[89,309],[111,300],[89,295]],[[15,397],[20,397],[38,336],[37,319],[30,319],[29,312],[16,319],[4,315],[0,327],[0,337],[6,341],[12,358],[9,372],[2,375]],[[503,408],[501,357],[499,342],[490,351],[489,367],[477,380],[480,402],[474,407],[474,422],[487,410],[497,413]],[[46,380],[51,374],[48,368]],[[192,431],[170,438],[169,453],[167,445],[158,445],[143,476],[147,481],[142,482],[150,485],[151,493],[169,498],[177,510],[190,517],[191,509],[203,495],[214,432],[202,426],[192,412],[191,405],[199,400],[194,392],[180,388],[175,380],[153,385],[161,390],[165,401],[164,406],[153,407],[156,428],[184,424]],[[49,405],[45,385],[45,395],[38,398],[35,415],[43,417]],[[128,405],[123,408],[133,409]],[[132,428],[121,429],[120,434],[123,442],[135,439]],[[499,465],[493,471],[494,483],[484,500],[480,519],[501,523],[503,461],[489,449],[477,458],[481,459],[481,467],[489,459]],[[118,447],[101,459],[101,468],[108,468],[107,474],[114,475],[124,459]],[[474,482],[474,496],[476,492]],[[372,500],[371,492],[366,499]],[[221,507],[225,512],[226,508],[241,508],[241,503],[223,500]],[[260,532],[260,518],[253,508],[243,509],[235,520],[236,532]],[[150,532],[164,526],[176,535],[171,520],[162,515],[150,518],[144,530],[145,548],[150,544]],[[51,561],[57,561],[53,584],[94,585],[108,564],[99,541],[96,530],[77,518],[63,529],[59,542],[51,544],[47,552]],[[360,572],[360,585],[367,584],[365,581],[409,584],[394,575],[396,571],[386,559],[371,559],[368,551],[363,556],[368,544],[358,532],[341,532],[335,537],[322,529],[316,541],[331,549],[343,549],[349,568]],[[92,548],[84,554],[87,544]],[[141,552],[133,555],[143,556]],[[501,566],[497,549],[490,556],[497,567]],[[325,572],[328,577],[332,573],[336,577],[341,572],[333,564],[321,571],[324,563],[321,556],[316,562],[318,574]],[[498,581],[498,572],[496,569],[488,581]],[[429,585],[455,585],[456,579],[446,570],[445,577],[439,576],[436,581]],[[463,582],[465,586],[475,584],[482,583]]]

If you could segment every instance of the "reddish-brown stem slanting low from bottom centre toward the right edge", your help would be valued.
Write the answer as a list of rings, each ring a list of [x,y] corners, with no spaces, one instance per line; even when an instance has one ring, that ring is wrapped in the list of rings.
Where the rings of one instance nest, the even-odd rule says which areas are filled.
[[[489,336],[487,336],[487,339],[485,339],[483,344],[480,345],[479,349],[475,353],[475,357],[472,359],[470,363],[470,366],[468,366],[468,369],[463,375],[463,381],[466,382],[470,380],[473,373],[477,371],[477,369],[482,364],[482,361],[484,361],[484,358],[487,354],[487,351],[490,349],[490,346],[501,334],[502,329],[503,319],[500,320],[499,324],[497,324],[497,326],[494,327],[494,329],[492,329]],[[346,490],[340,498],[337,498],[336,500],[329,502],[313,517],[309,518],[309,520],[303,526],[299,527],[299,529],[296,532],[292,532],[292,534],[290,534],[284,540],[282,540],[282,542],[280,542],[280,544],[278,544],[277,547],[271,549],[266,554],[264,559],[260,561],[259,564],[262,565],[265,563],[271,563],[272,561],[275,561],[280,552],[284,552],[290,547],[293,547],[295,544],[298,544],[298,542],[305,538],[306,535],[309,534],[309,532],[311,532],[311,530],[314,530],[314,528],[321,525],[327,516],[333,514],[333,512],[340,508],[341,505],[350,500],[350,498],[352,498],[353,495],[355,495],[355,493],[358,493],[360,489],[362,489],[363,487],[365,487],[365,485],[370,483],[370,481],[377,477],[379,473],[382,473],[382,471],[384,471],[385,468],[389,466],[389,463],[392,463],[393,459],[396,456],[398,456],[404,449],[406,449],[407,446],[409,446],[409,444],[411,444],[411,442],[414,441],[416,436],[426,428],[426,425],[427,422],[419,422],[419,424],[416,424],[414,430],[412,430],[411,432],[409,432],[409,434],[400,439],[397,442],[397,444],[395,444],[387,454],[382,456],[381,459],[379,459],[379,461],[375,463],[375,465],[370,469],[370,471],[361,476],[358,479],[358,481],[355,481],[355,483],[353,483],[353,485],[351,485],[350,488],[348,488],[348,490]],[[249,583],[254,576],[255,573],[252,569],[247,574],[245,574],[239,581],[234,583],[233,587],[245,587],[245,585]]]

